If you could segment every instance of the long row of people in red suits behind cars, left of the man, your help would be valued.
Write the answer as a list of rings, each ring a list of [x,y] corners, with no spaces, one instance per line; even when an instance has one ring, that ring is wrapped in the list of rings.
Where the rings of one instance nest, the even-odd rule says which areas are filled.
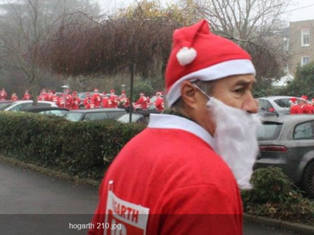
[[[158,91],[156,93],[156,101],[154,105],[156,106],[157,111],[163,111],[164,109],[164,101],[163,101],[163,93]],[[0,100],[6,100],[7,93],[3,88],[0,92]],[[25,91],[22,100],[30,100],[31,95],[29,91]],[[10,100],[18,100],[16,93],[13,93]],[[77,91],[73,91],[72,95],[68,90],[66,90],[61,96],[57,96],[56,91],[49,90],[46,92],[43,89],[40,92],[40,95],[37,96],[37,100],[45,100],[56,103],[59,107],[66,107],[68,109],[80,109],[81,100],[77,96]],[[105,91],[100,93],[98,89],[94,90],[94,93],[91,95],[89,92],[86,93],[86,98],[82,100],[85,109],[96,109],[96,108],[128,108],[130,106],[130,100],[126,97],[126,92],[122,91],[121,96],[117,96],[114,93],[114,89],[110,90],[110,95],[108,95]],[[135,109],[147,110],[147,108],[151,105],[151,101],[149,96],[145,96],[143,92],[140,93],[140,98],[136,103],[133,103]]]

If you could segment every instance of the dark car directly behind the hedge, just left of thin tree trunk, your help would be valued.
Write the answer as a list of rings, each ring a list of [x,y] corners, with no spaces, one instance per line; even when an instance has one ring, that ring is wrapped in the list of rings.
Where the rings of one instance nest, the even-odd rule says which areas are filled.
[[[80,109],[69,111],[65,118],[69,121],[91,121],[117,119],[126,114],[125,109]]]

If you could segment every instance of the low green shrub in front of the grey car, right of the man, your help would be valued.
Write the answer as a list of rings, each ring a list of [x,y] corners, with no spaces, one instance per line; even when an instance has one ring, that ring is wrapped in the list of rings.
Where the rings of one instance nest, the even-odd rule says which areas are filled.
[[[257,169],[251,183],[253,190],[241,192],[246,213],[314,225],[314,204],[280,168]]]

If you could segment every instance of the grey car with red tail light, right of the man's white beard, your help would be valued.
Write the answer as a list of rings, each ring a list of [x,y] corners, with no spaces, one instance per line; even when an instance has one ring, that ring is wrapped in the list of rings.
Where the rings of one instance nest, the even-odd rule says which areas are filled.
[[[314,197],[314,115],[264,116],[258,130],[260,153],[254,165],[280,167]]]

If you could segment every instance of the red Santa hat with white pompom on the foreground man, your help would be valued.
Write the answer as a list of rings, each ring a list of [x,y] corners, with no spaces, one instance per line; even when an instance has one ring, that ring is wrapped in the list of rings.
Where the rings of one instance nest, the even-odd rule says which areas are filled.
[[[165,72],[170,106],[181,96],[180,85],[186,80],[211,81],[244,74],[255,75],[251,56],[231,40],[211,33],[206,20],[174,31]]]

